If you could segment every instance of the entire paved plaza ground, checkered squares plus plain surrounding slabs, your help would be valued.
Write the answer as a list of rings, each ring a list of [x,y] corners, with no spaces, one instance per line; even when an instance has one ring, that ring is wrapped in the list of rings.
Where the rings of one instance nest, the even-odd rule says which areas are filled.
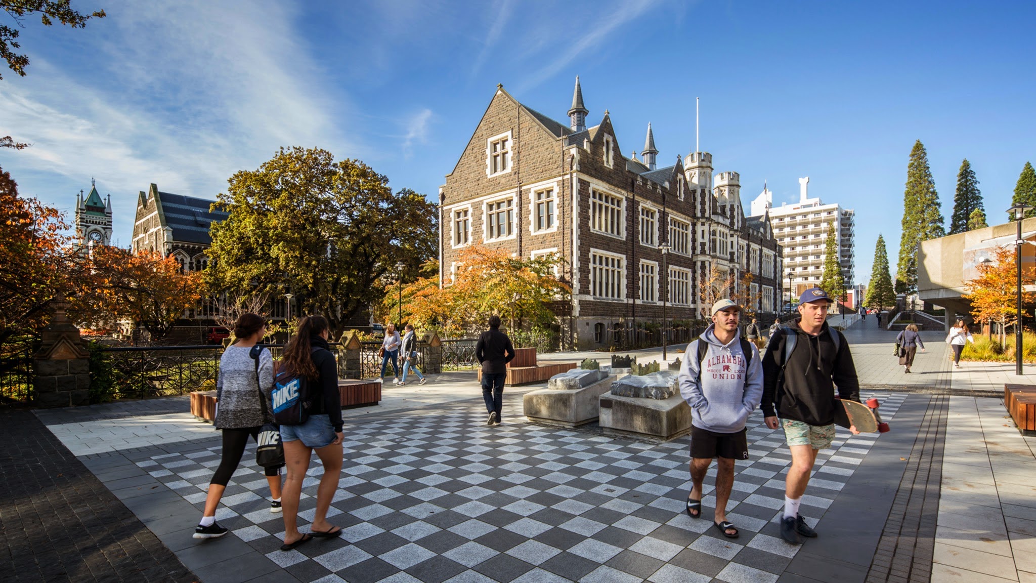
[[[166,580],[179,581],[180,573],[191,580],[190,568],[200,581],[221,583],[992,580],[985,574],[1036,581],[1036,503],[1027,502],[1036,492],[1027,485],[1036,483],[1033,448],[1004,418],[999,399],[975,396],[1002,393],[1005,382],[1036,384],[1036,374],[1015,377],[1010,363],[953,369],[938,332],[923,333],[928,351],[918,354],[915,372],[904,374],[891,354],[895,333],[867,324],[873,320],[856,323],[845,335],[865,393],[882,396],[893,432],[840,434],[834,449],[822,452],[804,506],[822,536],[803,547],[777,537],[774,518],[789,460],[779,432],[761,426],[758,413],[750,423],[752,457],[737,467],[729,513],[742,537],[731,542],[708,519],[683,513],[687,438],[648,444],[600,436],[593,425],[567,432],[528,424],[520,397],[537,385],[508,389],[506,424],[485,427],[473,372],[433,376],[424,386],[385,385],[380,406],[343,412],[350,441],[332,520],[346,535],[292,553],[277,550],[283,526],[269,513],[265,480],[248,463],[218,515],[233,533],[204,543],[190,537],[220,440],[185,413],[184,398],[36,415],[53,435],[48,439],[55,445],[42,449],[49,467],[85,464],[99,478],[97,488],[107,487],[108,498],[95,495],[99,503],[116,517],[132,511],[117,522],[138,525],[143,530],[134,536],[150,534],[175,553],[183,568]],[[668,360],[682,357],[683,348],[667,351]],[[639,362],[662,356],[660,350],[635,354]],[[541,361],[608,362],[610,356],[544,355]],[[63,453],[58,440],[67,447]],[[312,518],[315,466],[304,490],[304,521]],[[4,475],[9,480],[20,472]],[[77,475],[89,476],[85,470]],[[22,492],[15,495],[17,507],[38,500],[32,488],[13,491]],[[44,488],[82,491],[69,483]],[[62,516],[61,504],[78,508],[62,496],[65,502],[48,495],[55,508],[48,517]],[[706,506],[711,500],[707,496]],[[64,515],[69,511],[80,510]],[[10,556],[37,553],[12,543],[19,537],[11,532],[29,528],[25,517],[11,522],[0,510],[0,520]],[[53,562],[48,552],[67,552],[58,545],[41,549],[37,565]],[[103,557],[93,559],[98,565],[119,560],[95,555]],[[55,580],[36,573],[23,578]],[[107,580],[82,573],[82,580]]]

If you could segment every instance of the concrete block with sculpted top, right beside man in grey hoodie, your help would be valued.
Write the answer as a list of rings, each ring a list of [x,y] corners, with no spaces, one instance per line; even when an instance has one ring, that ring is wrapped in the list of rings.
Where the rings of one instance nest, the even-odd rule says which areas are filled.
[[[691,408],[680,396],[675,370],[624,377],[601,395],[605,435],[669,441],[691,431]]]

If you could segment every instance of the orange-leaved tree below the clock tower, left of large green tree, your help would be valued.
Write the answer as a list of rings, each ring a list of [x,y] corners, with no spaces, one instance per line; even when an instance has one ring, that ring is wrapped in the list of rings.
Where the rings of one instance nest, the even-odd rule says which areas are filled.
[[[159,253],[102,245],[91,251],[89,265],[91,277],[70,310],[81,324],[131,320],[160,340],[202,296],[199,272],[181,273],[175,258]]]

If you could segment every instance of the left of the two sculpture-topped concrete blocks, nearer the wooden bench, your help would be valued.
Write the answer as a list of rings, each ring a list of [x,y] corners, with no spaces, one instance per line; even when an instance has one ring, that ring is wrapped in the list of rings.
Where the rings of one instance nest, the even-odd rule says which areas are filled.
[[[525,393],[522,407],[534,423],[577,427],[600,416],[601,395],[611,390],[614,377],[601,370],[574,369],[554,374],[546,389]]]

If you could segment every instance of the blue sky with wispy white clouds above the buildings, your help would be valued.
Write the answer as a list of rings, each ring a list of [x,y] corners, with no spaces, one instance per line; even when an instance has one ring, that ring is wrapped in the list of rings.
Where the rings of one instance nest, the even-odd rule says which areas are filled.
[[[435,198],[497,83],[622,150],[694,145],[741,173],[746,209],[810,194],[857,213],[856,281],[879,232],[895,270],[906,162],[928,150],[946,225],[971,161],[990,221],[1036,161],[1036,4],[1028,2],[109,2],[85,30],[22,34],[29,76],[0,81],[0,151],[21,191],[70,211],[95,177],[128,245],[138,191],[214,198],[279,146],[358,158]],[[999,222],[999,221],[998,221]],[[894,275],[894,274],[893,274]]]

